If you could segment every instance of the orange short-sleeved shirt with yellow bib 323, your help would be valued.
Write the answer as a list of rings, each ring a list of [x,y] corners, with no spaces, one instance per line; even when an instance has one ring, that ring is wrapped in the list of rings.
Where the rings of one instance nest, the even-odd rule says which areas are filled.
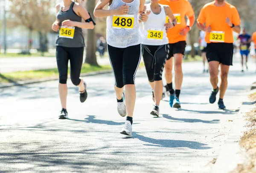
[[[239,13],[235,6],[230,3],[225,4],[223,7],[215,6],[215,1],[207,3],[200,11],[198,22],[205,23],[205,26],[211,26],[212,32],[206,33],[205,41],[207,43],[233,43],[233,29],[227,25],[226,18],[229,17],[231,22],[238,26],[240,25]],[[216,34],[217,33],[217,34]],[[222,33],[222,34],[218,34]],[[218,40],[219,39],[219,40]]]

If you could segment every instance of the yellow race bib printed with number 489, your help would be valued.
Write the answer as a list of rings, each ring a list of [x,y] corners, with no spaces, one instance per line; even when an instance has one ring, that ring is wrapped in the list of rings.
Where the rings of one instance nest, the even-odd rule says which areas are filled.
[[[133,29],[134,15],[126,14],[121,16],[113,15],[113,28],[116,29]]]

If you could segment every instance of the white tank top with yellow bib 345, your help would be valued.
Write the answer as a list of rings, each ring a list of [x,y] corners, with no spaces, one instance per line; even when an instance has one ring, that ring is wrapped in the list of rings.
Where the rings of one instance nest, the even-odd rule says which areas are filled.
[[[154,14],[151,10],[151,3],[146,4],[147,9],[150,9],[151,13],[148,15],[147,22],[143,22],[143,29],[147,32],[147,39],[143,41],[143,45],[165,45],[169,43],[166,27],[166,12],[163,5],[161,7],[160,14]]]

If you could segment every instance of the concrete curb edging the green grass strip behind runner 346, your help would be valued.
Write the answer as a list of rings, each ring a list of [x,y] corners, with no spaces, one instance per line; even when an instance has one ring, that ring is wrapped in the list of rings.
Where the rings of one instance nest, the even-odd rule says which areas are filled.
[[[98,75],[98,74],[108,74],[111,72],[112,72],[112,70],[92,71],[92,72],[88,72],[88,73],[83,73],[80,76],[81,77],[94,76],[94,75]],[[58,80],[58,77],[49,77],[49,78],[45,78],[45,79],[27,80],[27,81],[23,81],[23,82],[8,83],[8,84],[0,85],[0,88],[7,88],[7,87],[13,87],[13,86],[20,86],[20,85],[29,85],[29,84],[33,84],[33,83],[48,82],[48,81],[53,81],[53,80]]]

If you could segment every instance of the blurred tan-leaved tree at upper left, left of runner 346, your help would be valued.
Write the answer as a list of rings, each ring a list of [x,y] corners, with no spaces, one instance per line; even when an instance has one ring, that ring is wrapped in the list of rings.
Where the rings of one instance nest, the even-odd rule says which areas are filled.
[[[32,31],[39,35],[47,33],[55,20],[52,14],[52,0],[10,0],[10,12],[15,15],[15,25],[23,25],[29,29],[28,48],[31,48]],[[40,37],[43,38],[43,37]]]

